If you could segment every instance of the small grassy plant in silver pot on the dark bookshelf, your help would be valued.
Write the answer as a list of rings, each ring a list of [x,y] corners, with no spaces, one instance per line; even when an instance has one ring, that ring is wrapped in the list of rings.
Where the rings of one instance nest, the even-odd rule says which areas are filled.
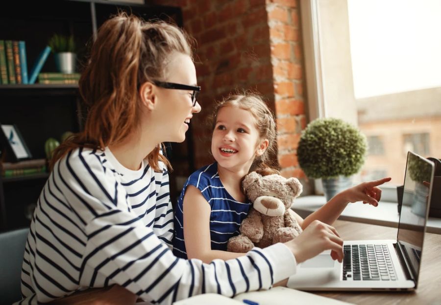
[[[54,34],[48,42],[55,58],[55,66],[59,72],[75,72],[75,41],[73,36]]]

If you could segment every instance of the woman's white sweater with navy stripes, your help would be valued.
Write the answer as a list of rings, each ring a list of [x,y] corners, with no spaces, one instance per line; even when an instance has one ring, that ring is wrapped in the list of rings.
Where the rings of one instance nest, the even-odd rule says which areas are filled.
[[[112,158],[76,149],[55,164],[30,226],[18,304],[113,284],[147,303],[171,304],[202,292],[269,288],[294,273],[283,244],[228,262],[176,258],[167,171],[124,171]]]

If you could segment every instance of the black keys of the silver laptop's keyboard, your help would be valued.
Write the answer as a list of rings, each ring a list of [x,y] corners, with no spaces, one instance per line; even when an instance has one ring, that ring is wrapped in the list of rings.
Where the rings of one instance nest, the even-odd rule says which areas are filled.
[[[344,245],[343,281],[396,281],[386,244]]]

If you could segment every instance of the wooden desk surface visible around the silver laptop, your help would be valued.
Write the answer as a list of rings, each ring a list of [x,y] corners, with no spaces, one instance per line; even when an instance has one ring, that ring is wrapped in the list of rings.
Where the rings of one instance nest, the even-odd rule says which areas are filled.
[[[344,240],[396,239],[397,229],[337,220],[334,227]],[[316,292],[324,297],[361,305],[440,304],[441,235],[426,233],[418,288],[415,292]]]

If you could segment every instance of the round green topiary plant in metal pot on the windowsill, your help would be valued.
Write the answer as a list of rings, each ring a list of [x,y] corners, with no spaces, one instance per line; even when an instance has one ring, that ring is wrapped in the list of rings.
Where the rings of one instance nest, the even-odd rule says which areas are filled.
[[[321,178],[326,200],[351,186],[351,175],[365,162],[366,137],[338,118],[318,118],[303,130],[297,148],[300,167],[309,178]]]

